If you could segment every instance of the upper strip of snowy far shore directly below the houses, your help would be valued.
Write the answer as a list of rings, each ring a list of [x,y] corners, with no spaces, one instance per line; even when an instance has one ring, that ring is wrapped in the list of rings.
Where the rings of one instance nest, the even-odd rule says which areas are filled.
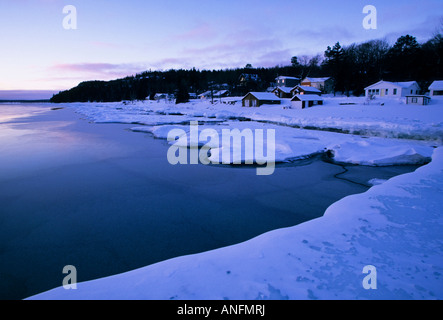
[[[146,125],[177,124],[193,120],[249,119],[298,128],[338,131],[384,138],[413,139],[443,143],[443,99],[433,98],[427,106],[406,105],[403,100],[380,98],[367,104],[366,98],[324,97],[323,106],[288,109],[289,105],[241,107],[207,101],[175,105],[141,101],[136,103],[70,104],[96,122]],[[218,100],[217,100],[218,102]]]

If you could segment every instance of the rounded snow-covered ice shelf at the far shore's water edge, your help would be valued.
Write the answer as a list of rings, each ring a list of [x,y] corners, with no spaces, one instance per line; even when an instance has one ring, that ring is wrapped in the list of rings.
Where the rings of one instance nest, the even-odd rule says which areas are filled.
[[[184,139],[182,147],[196,147],[191,145],[189,140],[189,125],[163,125],[163,126],[143,126],[134,127],[133,131],[152,133],[156,138],[166,139],[168,133],[173,129],[181,129],[188,134],[188,139]],[[226,121],[217,125],[199,125],[198,132],[211,129],[219,137],[222,136],[224,129],[238,129],[243,132],[245,129],[255,131],[275,130],[275,161],[284,162],[294,159],[308,158],[313,155],[332,151],[333,159],[340,163],[370,165],[370,166],[387,166],[387,165],[404,165],[404,164],[424,164],[430,161],[433,147],[432,143],[413,140],[386,139],[378,137],[362,137],[350,134],[303,130],[291,127],[273,125],[269,123],[259,123],[254,121],[238,122]],[[264,131],[264,150],[268,137]],[[209,139],[208,139],[209,140]],[[186,142],[187,141],[187,142]],[[223,144],[222,139],[211,139],[211,161],[222,163],[222,150],[229,149],[231,162],[247,160],[255,162],[261,159],[246,158],[244,145]],[[170,142],[178,145],[179,142]],[[202,146],[206,140],[200,141],[198,146]],[[235,157],[239,155],[239,157]]]

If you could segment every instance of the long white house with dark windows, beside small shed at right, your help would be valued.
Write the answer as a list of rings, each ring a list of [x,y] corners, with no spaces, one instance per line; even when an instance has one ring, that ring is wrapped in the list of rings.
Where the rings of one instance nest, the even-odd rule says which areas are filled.
[[[389,82],[381,80],[365,88],[366,97],[392,97],[401,98],[407,95],[420,93],[420,86],[417,81]]]

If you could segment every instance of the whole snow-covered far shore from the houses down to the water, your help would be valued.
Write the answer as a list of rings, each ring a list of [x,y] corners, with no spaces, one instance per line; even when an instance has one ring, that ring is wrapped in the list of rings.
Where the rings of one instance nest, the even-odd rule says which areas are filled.
[[[236,104],[194,100],[181,105],[141,101],[69,106],[96,123],[134,124],[133,131],[161,139],[174,128],[189,131],[191,121],[218,132],[224,128],[275,129],[277,162],[329,151],[341,163],[424,164],[443,141],[440,100],[429,106],[411,106],[392,99],[367,105],[364,98],[325,98],[324,106],[298,110],[288,109],[288,101],[283,106],[244,108],[238,99],[230,99]],[[242,119],[248,121],[239,121]]]

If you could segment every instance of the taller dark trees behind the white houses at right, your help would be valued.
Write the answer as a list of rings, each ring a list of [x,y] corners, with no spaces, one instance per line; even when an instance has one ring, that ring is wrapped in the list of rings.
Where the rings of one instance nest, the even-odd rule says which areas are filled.
[[[336,43],[325,51],[322,70],[335,79],[335,90],[360,95],[379,80],[411,81],[426,91],[432,80],[443,79],[443,36],[419,44],[410,35],[397,39],[393,46],[384,40],[341,47]],[[424,92],[423,92],[424,93]]]

